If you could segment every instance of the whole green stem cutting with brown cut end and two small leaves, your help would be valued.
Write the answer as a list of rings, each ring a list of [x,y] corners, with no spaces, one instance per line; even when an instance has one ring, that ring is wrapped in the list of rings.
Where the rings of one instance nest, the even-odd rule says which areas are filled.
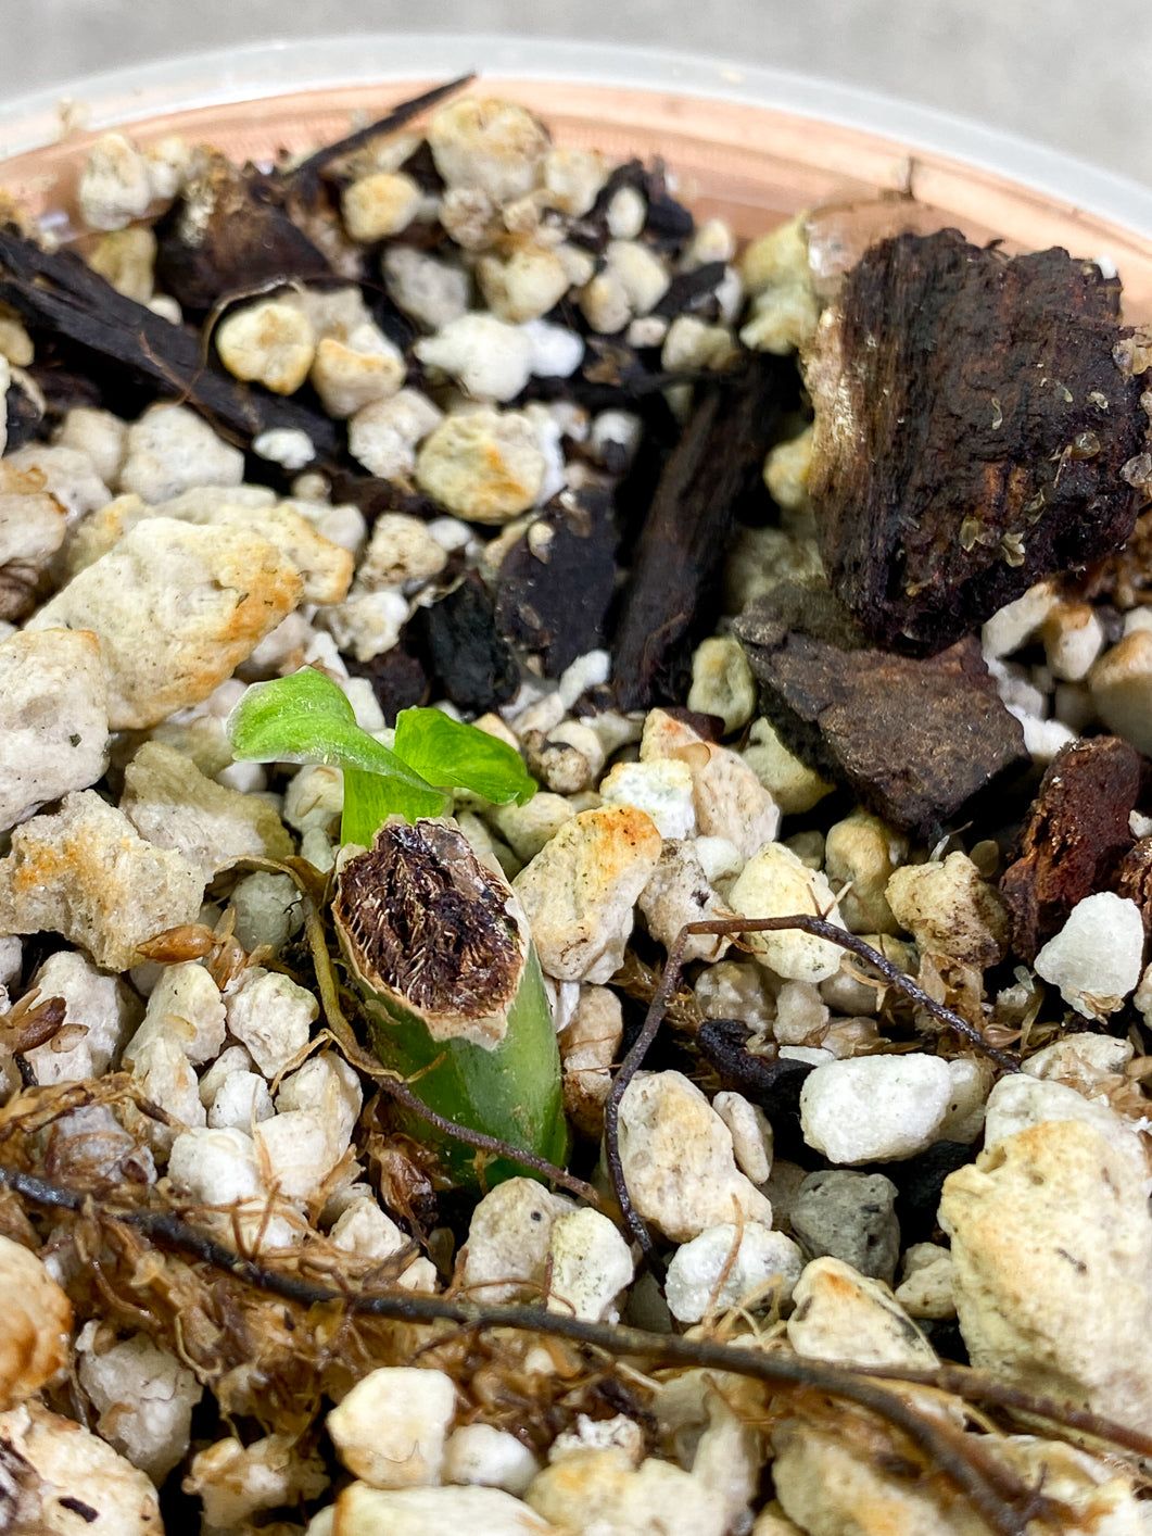
[[[333,922],[384,1066],[447,1120],[562,1163],[559,1052],[527,917],[447,819],[452,788],[496,803],[536,790],[518,753],[439,710],[404,710],[393,746],[315,668],[249,688],[227,723],[237,757],[344,771]],[[355,846],[359,845],[359,846]],[[475,1154],[442,1157],[476,1183]],[[525,1172],[504,1158],[492,1184]]]

